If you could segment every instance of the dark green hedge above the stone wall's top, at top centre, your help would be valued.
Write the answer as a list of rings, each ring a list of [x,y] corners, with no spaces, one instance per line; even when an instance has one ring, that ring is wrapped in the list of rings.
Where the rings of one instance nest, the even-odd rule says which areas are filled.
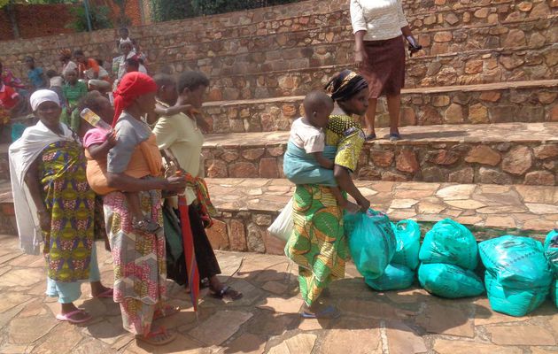
[[[297,1],[300,0],[151,0],[151,13],[155,21],[161,22]]]

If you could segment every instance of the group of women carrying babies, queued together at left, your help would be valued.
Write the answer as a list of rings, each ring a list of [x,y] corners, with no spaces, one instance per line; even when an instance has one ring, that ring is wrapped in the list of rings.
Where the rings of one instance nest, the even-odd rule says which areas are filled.
[[[58,297],[58,320],[91,319],[74,305],[81,282],[89,281],[91,296],[120,304],[123,326],[138,340],[174,340],[175,334],[151,324],[180,310],[165,299],[167,268],[169,278],[188,284],[184,251],[169,249],[177,243],[167,242],[167,237],[182,235],[137,223],[136,209],[142,221],[154,225],[166,226],[166,210],[166,217],[180,223],[172,198],[176,194],[185,194],[189,204],[200,278],[213,296],[242,296],[217,278],[221,269],[205,235],[211,201],[199,197],[205,186],[200,177],[204,138],[197,110],[208,86],[198,72],[182,73],[178,81],[167,74],[151,78],[127,73],[113,92],[113,106],[98,91],[87,93],[78,104],[112,125],[109,131],[86,121],[74,131],[60,119],[62,103],[56,92],[39,89],[31,95],[38,122],[10,147],[12,192],[22,249],[38,254],[43,242],[46,294]],[[174,156],[182,176],[163,175],[159,150]],[[95,248],[99,235],[107,235],[112,252],[112,288],[100,282]]]

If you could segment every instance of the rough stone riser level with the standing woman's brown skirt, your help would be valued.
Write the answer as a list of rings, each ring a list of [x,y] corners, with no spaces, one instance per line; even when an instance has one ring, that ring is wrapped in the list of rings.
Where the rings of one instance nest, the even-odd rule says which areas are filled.
[[[351,44],[352,45],[352,44]],[[310,63],[309,59],[285,58],[287,69],[271,70],[267,64],[229,66],[228,73],[221,70],[223,63],[207,63],[200,69],[211,78],[210,101],[302,96],[309,90],[322,89],[336,73],[353,69],[353,58],[347,43],[331,45],[322,57]],[[343,58],[334,57],[343,52]],[[317,65],[317,64],[327,65]],[[546,45],[538,50],[473,50],[458,54],[411,58],[407,63],[406,88],[477,85],[507,81],[539,81],[558,79],[558,44]],[[308,66],[309,65],[309,66]],[[233,69],[235,67],[235,69]],[[230,71],[229,71],[230,70]]]

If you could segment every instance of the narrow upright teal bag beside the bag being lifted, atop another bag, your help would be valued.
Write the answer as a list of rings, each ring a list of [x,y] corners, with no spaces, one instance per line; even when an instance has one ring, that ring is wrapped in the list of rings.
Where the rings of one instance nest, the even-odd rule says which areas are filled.
[[[413,220],[401,220],[392,225],[397,250],[391,263],[407,266],[415,270],[419,266],[418,253],[421,250],[421,227]]]

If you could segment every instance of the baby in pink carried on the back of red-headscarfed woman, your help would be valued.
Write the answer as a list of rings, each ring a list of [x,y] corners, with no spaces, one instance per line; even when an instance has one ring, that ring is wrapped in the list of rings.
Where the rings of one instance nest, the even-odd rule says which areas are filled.
[[[104,114],[104,112],[113,112],[111,103],[105,96],[102,96],[97,91],[90,92],[84,101],[88,102],[87,108],[89,108],[93,112],[98,112],[96,114],[101,117],[105,123],[110,125],[112,123],[112,115],[111,114]],[[83,103],[81,105],[84,105]],[[85,131],[83,135],[83,147],[86,149],[86,158],[88,158],[88,166],[89,164],[99,164],[101,166],[105,166],[106,171],[106,156],[111,150],[114,145],[116,145],[116,132],[114,131],[106,131],[100,127],[92,127],[86,121],[82,122],[81,125],[81,133]],[[101,169],[103,169],[101,167]],[[98,169],[89,169],[88,168],[88,181],[91,185],[91,188],[98,194],[104,195],[112,190],[105,187],[108,185],[106,181],[99,181],[99,179],[103,179],[105,175],[99,176],[92,176],[89,174],[89,171],[97,170]],[[97,183],[93,182],[97,181]],[[103,185],[105,190],[98,189],[98,185]],[[136,228],[136,230],[147,232],[147,233],[155,233],[159,230],[160,225],[156,222],[153,222],[149,217],[144,217],[140,197],[138,193],[135,192],[124,192],[124,196],[126,196],[126,200],[128,202],[128,206],[130,212],[132,213],[132,227]]]

